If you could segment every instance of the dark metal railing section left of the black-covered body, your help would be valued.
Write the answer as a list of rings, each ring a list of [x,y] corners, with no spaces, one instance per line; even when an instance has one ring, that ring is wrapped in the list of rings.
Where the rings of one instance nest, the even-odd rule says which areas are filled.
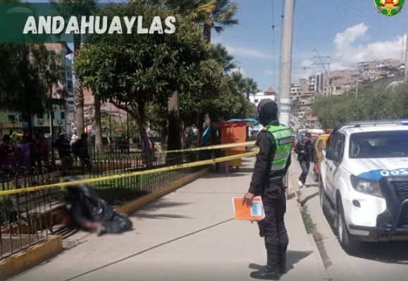
[[[59,180],[58,172],[49,172],[47,168],[4,168],[0,170],[0,191],[49,185]],[[0,196],[0,260],[47,238],[52,224],[50,211],[59,197],[59,189]]]

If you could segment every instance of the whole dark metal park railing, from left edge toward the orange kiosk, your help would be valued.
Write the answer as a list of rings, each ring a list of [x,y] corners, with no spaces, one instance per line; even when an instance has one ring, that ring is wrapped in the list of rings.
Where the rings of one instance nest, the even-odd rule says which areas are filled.
[[[83,180],[92,182],[102,199],[116,207],[160,190],[223,156],[220,149],[156,152],[150,156],[113,153],[115,156],[93,154],[89,170],[80,167],[80,159],[73,159],[65,170],[59,163],[50,170],[0,169],[0,261],[66,227],[66,218],[58,214],[65,206],[66,195],[60,183],[68,177],[80,174]]]

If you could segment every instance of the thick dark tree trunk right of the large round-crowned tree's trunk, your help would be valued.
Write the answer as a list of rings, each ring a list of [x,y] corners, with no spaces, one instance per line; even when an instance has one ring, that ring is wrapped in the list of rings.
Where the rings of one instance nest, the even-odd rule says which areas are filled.
[[[178,108],[178,92],[175,91],[168,99],[168,140],[167,149],[181,149],[180,111]]]

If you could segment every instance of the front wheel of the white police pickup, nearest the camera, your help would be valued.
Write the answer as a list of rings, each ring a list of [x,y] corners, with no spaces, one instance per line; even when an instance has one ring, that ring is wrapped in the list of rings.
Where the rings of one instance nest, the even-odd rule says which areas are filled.
[[[342,246],[342,249],[344,249],[347,252],[347,254],[356,254],[360,248],[361,242],[357,239],[354,239],[354,237],[352,237],[352,235],[350,235],[349,231],[347,230],[344,210],[340,200],[338,201],[336,215],[338,216],[337,218],[338,242]]]

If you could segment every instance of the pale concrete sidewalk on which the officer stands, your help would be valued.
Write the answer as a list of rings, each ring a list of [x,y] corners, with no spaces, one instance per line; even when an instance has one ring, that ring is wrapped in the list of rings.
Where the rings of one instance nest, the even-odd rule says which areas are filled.
[[[80,232],[66,251],[13,280],[252,280],[266,264],[256,223],[233,220],[231,198],[249,187],[253,159],[239,172],[208,174],[132,216],[135,230],[97,237]],[[281,280],[322,280],[319,252],[296,199],[286,216],[289,272]]]

